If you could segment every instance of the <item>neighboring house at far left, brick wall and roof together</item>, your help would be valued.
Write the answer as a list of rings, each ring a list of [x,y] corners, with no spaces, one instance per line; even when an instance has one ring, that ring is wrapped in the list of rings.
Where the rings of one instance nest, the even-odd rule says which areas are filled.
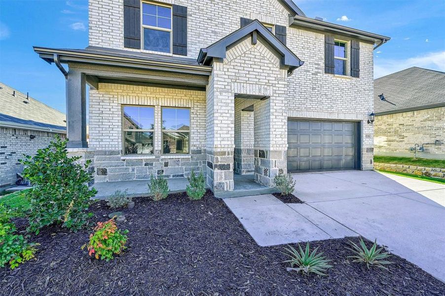
[[[13,185],[23,170],[18,159],[66,137],[65,114],[0,82],[0,186]]]

